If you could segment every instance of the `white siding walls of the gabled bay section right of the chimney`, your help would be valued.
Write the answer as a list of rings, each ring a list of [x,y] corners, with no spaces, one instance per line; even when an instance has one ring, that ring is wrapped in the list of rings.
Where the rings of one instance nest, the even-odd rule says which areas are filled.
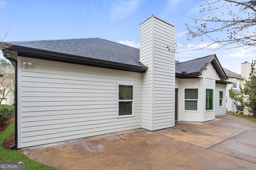
[[[226,104],[226,87],[222,84],[216,84],[216,80],[220,80],[214,66],[210,63],[202,72],[202,76],[193,79],[177,79],[176,88],[179,88],[179,121],[200,121],[205,122],[215,119],[215,114],[225,113]],[[216,90],[217,86],[217,90]],[[186,111],[184,108],[184,89],[198,88],[198,110]],[[206,89],[213,89],[214,93],[214,109],[206,111]],[[223,105],[219,107],[219,90],[224,92]],[[217,101],[218,100],[218,101]],[[218,107],[217,107],[218,105]]]

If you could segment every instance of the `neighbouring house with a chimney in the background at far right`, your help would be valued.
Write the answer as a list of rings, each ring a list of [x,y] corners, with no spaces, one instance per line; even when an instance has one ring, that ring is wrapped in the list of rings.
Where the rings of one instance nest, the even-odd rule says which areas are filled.
[[[226,68],[223,68],[226,75],[228,76],[228,80],[232,82],[233,84],[228,84],[226,88],[226,110],[236,112],[236,102],[234,99],[229,97],[229,90],[232,88],[233,92],[235,92],[236,95],[240,95],[240,87],[244,88],[245,80],[248,80],[250,70],[251,70],[251,64],[247,61],[241,64],[241,74],[236,74],[235,72],[232,72]]]

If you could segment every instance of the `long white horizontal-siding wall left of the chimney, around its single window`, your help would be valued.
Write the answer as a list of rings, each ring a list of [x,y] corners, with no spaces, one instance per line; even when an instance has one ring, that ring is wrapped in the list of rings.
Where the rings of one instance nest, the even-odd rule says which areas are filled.
[[[141,128],[142,74],[18,57],[18,147]],[[117,116],[118,84],[134,85],[134,116]]]

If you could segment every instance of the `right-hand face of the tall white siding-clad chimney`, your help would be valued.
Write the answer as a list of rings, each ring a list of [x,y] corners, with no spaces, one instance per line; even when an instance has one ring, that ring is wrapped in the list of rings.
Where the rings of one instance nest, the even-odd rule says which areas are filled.
[[[157,130],[174,126],[175,60],[166,48],[174,45],[174,27],[154,18],[153,31],[153,129]]]

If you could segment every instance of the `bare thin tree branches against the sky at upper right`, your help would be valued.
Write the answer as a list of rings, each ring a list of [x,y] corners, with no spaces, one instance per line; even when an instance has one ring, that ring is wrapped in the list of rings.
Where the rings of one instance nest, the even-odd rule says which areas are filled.
[[[194,24],[186,23],[187,39],[200,37],[206,46],[192,50],[214,43],[220,45],[216,49],[256,47],[256,0],[204,0],[199,12],[200,18],[188,17]]]

